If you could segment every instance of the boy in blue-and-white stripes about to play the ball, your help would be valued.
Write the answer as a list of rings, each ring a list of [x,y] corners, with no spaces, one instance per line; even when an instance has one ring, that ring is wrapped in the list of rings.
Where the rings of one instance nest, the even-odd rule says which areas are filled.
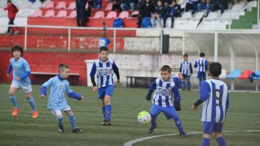
[[[179,130],[181,136],[189,136],[186,132],[183,131],[181,120],[176,113],[176,111],[181,110],[181,97],[180,93],[172,81],[171,69],[168,65],[164,65],[161,70],[161,77],[157,78],[149,88],[147,93],[146,100],[150,101],[152,92],[156,88],[155,93],[153,94],[152,107],[150,110],[150,115],[152,117],[152,126],[148,129],[148,133],[151,134],[153,130],[157,127],[156,117],[163,112],[167,119],[172,118],[175,121],[176,127]],[[174,96],[174,104],[172,98]]]

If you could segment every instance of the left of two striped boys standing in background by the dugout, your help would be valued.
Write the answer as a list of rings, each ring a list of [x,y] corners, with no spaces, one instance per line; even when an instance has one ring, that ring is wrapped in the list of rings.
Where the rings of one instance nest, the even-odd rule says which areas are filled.
[[[185,89],[185,79],[187,80],[188,90],[191,90],[191,74],[192,74],[192,65],[191,62],[188,60],[188,54],[183,55],[183,61],[181,61],[180,67],[181,74],[185,74],[186,78],[182,79],[182,90]]]

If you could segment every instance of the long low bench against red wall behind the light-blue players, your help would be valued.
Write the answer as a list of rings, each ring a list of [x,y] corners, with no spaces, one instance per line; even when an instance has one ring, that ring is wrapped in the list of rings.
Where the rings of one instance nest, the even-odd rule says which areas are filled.
[[[45,72],[31,72],[30,78],[32,84],[43,84],[50,78],[57,76],[58,73],[45,73]],[[69,78],[67,79],[70,85],[78,85],[79,74],[69,73]]]

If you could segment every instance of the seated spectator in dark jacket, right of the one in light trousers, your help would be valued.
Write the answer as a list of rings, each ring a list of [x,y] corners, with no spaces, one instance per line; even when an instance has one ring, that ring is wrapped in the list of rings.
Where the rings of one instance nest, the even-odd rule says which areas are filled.
[[[176,0],[173,0],[172,1],[172,4],[170,5],[171,7],[171,10],[169,12],[169,14],[165,17],[164,19],[164,25],[166,23],[166,19],[168,17],[171,17],[172,19],[172,25],[171,25],[171,28],[173,28],[173,23],[174,23],[174,17],[181,17],[181,5],[177,4],[176,3]]]

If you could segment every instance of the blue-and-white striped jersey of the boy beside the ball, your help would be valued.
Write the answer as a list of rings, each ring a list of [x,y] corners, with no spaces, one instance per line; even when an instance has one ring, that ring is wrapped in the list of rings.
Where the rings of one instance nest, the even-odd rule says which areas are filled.
[[[173,106],[173,96],[175,102],[181,101],[180,93],[172,81],[172,78],[170,78],[169,81],[163,81],[162,78],[157,78],[150,85],[149,90],[153,91],[155,88],[156,91],[153,94],[152,104],[163,107]]]

